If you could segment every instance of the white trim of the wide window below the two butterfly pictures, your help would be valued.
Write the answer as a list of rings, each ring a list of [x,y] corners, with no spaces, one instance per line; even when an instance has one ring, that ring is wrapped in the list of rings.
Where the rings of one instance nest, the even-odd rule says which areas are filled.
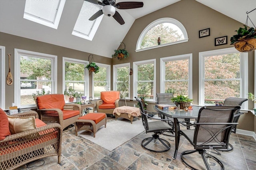
[[[204,104],[204,57],[223,55],[230,53],[238,53],[235,47],[215,49],[211,51],[199,52],[199,105]],[[248,53],[240,53],[240,70],[242,71],[242,81],[240,87],[240,97],[247,98],[248,94]],[[248,109],[248,101],[244,102],[242,105],[243,109]]]

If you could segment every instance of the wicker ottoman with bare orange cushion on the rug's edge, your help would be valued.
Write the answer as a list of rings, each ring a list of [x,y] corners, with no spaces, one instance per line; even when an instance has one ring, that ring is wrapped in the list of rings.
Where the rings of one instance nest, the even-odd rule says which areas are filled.
[[[105,113],[88,113],[75,121],[76,136],[77,132],[80,130],[89,130],[93,132],[93,137],[95,138],[95,133],[102,126],[107,124],[107,115]]]

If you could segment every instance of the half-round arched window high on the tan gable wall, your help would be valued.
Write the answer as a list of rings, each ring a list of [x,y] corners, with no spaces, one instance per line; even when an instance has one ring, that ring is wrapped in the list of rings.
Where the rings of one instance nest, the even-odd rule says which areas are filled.
[[[158,43],[158,38],[161,39]],[[160,18],[150,23],[140,34],[136,52],[188,42],[185,27],[173,18]]]

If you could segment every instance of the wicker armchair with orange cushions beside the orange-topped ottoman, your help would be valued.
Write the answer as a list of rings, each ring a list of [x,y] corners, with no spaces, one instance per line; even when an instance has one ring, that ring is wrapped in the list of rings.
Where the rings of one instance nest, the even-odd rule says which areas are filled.
[[[40,103],[40,106],[38,100],[42,97],[47,97],[47,100]],[[40,111],[40,119],[47,124],[59,123],[64,129],[80,117],[81,105],[65,104],[63,94],[38,95],[34,96],[34,99]]]

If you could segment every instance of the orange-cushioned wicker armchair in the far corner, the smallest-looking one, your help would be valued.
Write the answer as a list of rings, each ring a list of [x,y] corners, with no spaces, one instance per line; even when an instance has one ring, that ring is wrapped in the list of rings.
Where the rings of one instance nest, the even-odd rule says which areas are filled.
[[[120,91],[102,91],[100,92],[100,100],[96,101],[96,108],[98,113],[106,113],[113,115],[113,111],[118,107],[120,100]]]

